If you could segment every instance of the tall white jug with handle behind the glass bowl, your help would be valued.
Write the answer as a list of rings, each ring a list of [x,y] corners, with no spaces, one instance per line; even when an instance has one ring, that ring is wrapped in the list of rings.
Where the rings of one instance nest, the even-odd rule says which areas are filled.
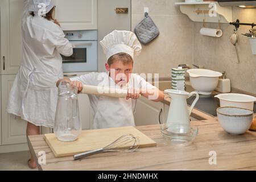
[[[164,92],[171,97],[167,123],[180,123],[190,126],[189,117],[193,107],[199,100],[199,94],[197,92],[188,93],[181,90],[164,90]],[[196,99],[188,110],[187,98],[191,97],[193,94],[196,95]]]

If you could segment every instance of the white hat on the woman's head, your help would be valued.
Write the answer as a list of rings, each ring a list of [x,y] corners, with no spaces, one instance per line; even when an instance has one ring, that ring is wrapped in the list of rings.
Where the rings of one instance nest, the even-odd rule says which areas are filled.
[[[45,11],[44,11],[45,14],[49,13],[49,11],[51,11],[51,9],[55,6],[51,0],[30,0],[29,2],[30,3],[29,3],[28,11],[32,11],[35,14],[38,14],[38,11],[44,8],[43,6],[40,6],[42,4],[46,5]],[[42,15],[45,15],[45,14],[42,14]]]

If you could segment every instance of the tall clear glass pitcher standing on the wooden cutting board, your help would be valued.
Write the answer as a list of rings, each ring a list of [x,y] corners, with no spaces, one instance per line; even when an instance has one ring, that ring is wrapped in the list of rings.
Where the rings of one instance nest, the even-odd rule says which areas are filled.
[[[77,88],[60,82],[53,132],[63,142],[76,140],[81,134]]]

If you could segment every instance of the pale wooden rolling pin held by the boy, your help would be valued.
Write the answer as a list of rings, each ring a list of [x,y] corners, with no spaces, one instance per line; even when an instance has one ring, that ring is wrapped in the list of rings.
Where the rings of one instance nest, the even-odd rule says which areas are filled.
[[[81,93],[115,98],[126,98],[127,96],[127,90],[125,89],[107,88],[93,85],[82,85]]]

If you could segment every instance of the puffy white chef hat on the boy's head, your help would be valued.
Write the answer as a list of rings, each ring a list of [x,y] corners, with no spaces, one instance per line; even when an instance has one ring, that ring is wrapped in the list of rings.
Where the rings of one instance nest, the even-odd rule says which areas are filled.
[[[134,55],[139,55],[142,49],[137,36],[131,31],[114,30],[106,35],[100,44],[106,54],[106,60],[121,52],[129,54],[134,59]]]

